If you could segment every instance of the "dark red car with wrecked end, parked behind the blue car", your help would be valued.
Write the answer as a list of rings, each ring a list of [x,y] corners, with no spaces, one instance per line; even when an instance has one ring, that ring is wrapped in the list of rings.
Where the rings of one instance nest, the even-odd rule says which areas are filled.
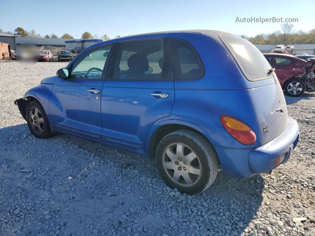
[[[291,97],[301,96],[305,90],[314,91],[315,58],[308,61],[293,55],[279,53],[263,54],[276,75],[282,89]]]

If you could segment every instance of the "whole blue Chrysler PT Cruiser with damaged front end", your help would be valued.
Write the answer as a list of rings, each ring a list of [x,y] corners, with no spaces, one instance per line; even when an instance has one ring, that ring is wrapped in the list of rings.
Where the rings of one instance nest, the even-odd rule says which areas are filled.
[[[31,133],[75,135],[155,158],[196,194],[285,163],[299,139],[281,86],[249,41],[221,31],[148,33],[84,49],[15,101]]]

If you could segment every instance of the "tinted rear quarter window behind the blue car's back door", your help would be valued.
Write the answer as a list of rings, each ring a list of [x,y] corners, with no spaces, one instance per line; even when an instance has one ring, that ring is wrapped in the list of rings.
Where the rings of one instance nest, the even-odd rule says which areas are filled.
[[[186,41],[169,38],[175,79],[198,79],[203,76],[203,65],[196,50]]]

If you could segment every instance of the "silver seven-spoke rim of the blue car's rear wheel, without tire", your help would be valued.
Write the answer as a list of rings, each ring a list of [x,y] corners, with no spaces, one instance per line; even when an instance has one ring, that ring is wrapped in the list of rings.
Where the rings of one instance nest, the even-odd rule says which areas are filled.
[[[163,168],[169,178],[183,187],[198,183],[201,177],[200,160],[196,153],[183,143],[171,143],[163,151]]]

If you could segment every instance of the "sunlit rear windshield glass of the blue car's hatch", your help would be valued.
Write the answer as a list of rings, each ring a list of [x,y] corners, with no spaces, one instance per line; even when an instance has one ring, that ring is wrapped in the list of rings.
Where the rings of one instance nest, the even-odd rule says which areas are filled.
[[[232,34],[222,34],[220,38],[234,56],[247,79],[259,80],[268,77],[270,65],[254,44]]]

